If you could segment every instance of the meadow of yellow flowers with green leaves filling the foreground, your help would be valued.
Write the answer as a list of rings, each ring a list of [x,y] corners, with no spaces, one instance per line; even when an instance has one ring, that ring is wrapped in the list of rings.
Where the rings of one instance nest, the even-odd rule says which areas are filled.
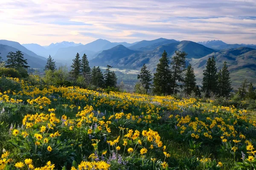
[[[0,170],[256,168],[256,121],[246,110],[4,79]]]

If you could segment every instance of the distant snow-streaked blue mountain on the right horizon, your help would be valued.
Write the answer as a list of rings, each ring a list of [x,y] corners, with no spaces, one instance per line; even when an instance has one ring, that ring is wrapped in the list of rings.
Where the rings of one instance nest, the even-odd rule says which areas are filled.
[[[239,48],[239,47],[248,47],[248,48],[255,48],[256,45],[253,44],[227,44],[221,40],[211,40],[211,41],[204,41],[204,42],[198,42],[198,44],[202,44],[208,48],[216,49],[216,50],[222,50],[227,48]]]

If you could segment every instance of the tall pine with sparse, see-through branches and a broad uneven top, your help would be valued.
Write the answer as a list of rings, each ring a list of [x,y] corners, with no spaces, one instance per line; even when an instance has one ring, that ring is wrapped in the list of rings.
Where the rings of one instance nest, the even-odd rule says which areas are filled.
[[[175,56],[172,57],[171,61],[171,73],[172,73],[172,94],[176,94],[179,88],[182,87],[178,82],[184,82],[184,71],[186,68],[186,54],[185,52],[175,51]]]

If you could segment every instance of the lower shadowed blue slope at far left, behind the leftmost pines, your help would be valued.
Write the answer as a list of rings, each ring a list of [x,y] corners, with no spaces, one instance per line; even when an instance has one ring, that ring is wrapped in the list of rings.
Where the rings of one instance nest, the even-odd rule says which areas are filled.
[[[13,43],[12,43],[13,45]],[[17,45],[17,44],[16,44]],[[18,46],[18,45],[17,45]],[[7,54],[9,52],[16,52],[20,49],[17,49],[17,48],[14,48],[14,47],[11,47],[9,45],[3,45],[3,44],[0,44],[0,56],[3,57],[3,60],[6,61],[7,60]],[[22,50],[20,50],[22,51]],[[27,62],[28,62],[28,65],[31,67],[31,68],[44,68],[46,62],[47,62],[47,59],[44,58],[44,57],[36,57],[35,55],[33,56],[30,56],[29,54],[33,54],[31,51],[29,52],[29,54],[27,54],[26,52],[28,52],[27,50],[24,50],[22,51],[22,54],[24,59],[27,59]]]

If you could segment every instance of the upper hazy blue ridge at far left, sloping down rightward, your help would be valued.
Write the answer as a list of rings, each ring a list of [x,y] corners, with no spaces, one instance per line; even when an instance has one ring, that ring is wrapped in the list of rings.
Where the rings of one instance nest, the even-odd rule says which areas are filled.
[[[45,57],[41,57],[41,56],[35,54],[34,52],[29,51],[27,48],[20,45],[19,42],[8,41],[8,40],[0,40],[0,44],[8,45],[8,46],[13,47],[13,48],[17,48],[18,50],[20,50],[23,53],[26,53],[26,54],[28,54],[29,56],[32,56],[32,57],[36,57],[36,58],[43,59],[43,60],[46,59]],[[15,51],[13,51],[13,52],[15,52]]]

